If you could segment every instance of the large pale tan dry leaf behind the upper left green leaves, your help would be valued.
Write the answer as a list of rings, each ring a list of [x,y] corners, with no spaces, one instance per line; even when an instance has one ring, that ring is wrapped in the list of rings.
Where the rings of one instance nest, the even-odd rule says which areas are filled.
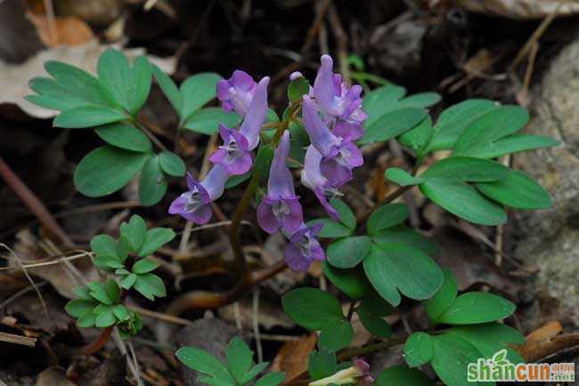
[[[58,114],[57,111],[41,108],[24,99],[26,95],[32,93],[28,85],[29,80],[35,76],[46,76],[44,69],[46,60],[60,60],[94,74],[101,52],[108,47],[109,45],[99,44],[96,40],[91,40],[82,45],[71,47],[62,45],[40,51],[29,60],[17,65],[0,60],[0,90],[2,90],[2,93],[0,93],[0,105],[4,103],[15,104],[32,117],[55,117]],[[119,48],[118,46],[115,47]],[[143,48],[123,49],[122,51],[126,53],[129,59],[145,53]],[[175,70],[176,59],[173,57],[162,59],[147,55],[147,58],[169,74],[172,74]]]

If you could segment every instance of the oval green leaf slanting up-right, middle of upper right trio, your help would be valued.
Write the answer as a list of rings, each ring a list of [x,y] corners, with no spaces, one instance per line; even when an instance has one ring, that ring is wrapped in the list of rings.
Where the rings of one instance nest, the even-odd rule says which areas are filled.
[[[494,141],[517,133],[529,120],[526,109],[502,106],[492,109],[471,122],[456,141],[453,156],[478,157]]]

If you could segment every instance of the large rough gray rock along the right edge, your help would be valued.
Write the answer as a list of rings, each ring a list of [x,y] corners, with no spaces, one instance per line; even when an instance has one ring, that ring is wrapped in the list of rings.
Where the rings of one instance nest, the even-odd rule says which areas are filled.
[[[553,208],[515,213],[514,256],[538,269],[527,288],[527,328],[559,319],[579,326],[579,41],[551,62],[532,92],[526,133],[562,142],[518,154],[515,166],[550,192]]]

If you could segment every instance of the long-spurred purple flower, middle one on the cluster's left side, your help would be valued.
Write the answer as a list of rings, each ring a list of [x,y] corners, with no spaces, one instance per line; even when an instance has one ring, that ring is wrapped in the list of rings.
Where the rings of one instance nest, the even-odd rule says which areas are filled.
[[[224,144],[213,153],[209,160],[214,164],[223,165],[227,173],[243,174],[248,172],[253,165],[251,150],[255,149],[259,143],[259,132],[267,113],[267,84],[269,84],[267,76],[257,84],[239,132],[219,125],[219,135]]]

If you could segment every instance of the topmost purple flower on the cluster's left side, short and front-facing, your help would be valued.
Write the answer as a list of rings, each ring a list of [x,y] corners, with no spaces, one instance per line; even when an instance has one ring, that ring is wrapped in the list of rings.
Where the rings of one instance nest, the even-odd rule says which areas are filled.
[[[232,111],[245,116],[249,103],[256,93],[257,83],[249,74],[238,70],[233,71],[232,77],[217,82],[217,99],[222,102],[225,111]]]

